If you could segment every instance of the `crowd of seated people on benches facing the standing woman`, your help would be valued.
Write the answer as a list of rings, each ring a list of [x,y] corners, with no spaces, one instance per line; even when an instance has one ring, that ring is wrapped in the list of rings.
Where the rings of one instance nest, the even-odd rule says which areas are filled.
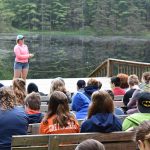
[[[30,123],[40,123],[40,134],[134,130],[145,120],[150,120],[150,72],[143,73],[142,78],[140,84],[136,75],[114,76],[110,78],[112,90],[101,90],[102,84],[95,78],[87,83],[79,80],[72,97],[64,80],[55,78],[48,93],[46,113],[40,112],[43,94],[36,84],[31,83],[26,89],[26,82],[16,78],[12,87],[0,87],[0,119],[3,120],[0,122],[3,127],[0,129],[0,148],[10,150],[12,135],[27,134]],[[114,106],[117,95],[123,96],[126,110]],[[131,115],[122,123],[116,115],[126,113]],[[78,119],[83,120],[81,126]]]

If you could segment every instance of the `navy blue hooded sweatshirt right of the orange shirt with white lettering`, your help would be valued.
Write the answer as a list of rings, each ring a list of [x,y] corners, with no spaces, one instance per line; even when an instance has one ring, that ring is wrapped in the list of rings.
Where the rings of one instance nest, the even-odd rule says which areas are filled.
[[[81,125],[81,132],[114,132],[121,131],[121,121],[112,113],[98,113]]]

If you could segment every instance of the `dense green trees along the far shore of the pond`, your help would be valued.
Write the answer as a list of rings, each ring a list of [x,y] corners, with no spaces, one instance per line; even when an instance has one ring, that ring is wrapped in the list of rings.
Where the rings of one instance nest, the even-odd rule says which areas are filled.
[[[91,30],[96,34],[150,29],[150,0],[0,0],[0,30]]]

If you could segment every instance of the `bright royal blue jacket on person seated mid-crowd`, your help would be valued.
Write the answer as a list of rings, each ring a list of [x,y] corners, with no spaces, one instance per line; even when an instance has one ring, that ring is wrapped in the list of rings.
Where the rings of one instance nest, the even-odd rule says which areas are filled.
[[[81,92],[72,96],[72,110],[76,113],[77,119],[84,119],[88,113],[90,100]]]

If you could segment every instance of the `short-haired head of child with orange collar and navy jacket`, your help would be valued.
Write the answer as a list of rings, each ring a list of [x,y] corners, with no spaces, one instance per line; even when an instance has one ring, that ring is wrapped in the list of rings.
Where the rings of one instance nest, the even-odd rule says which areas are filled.
[[[31,110],[40,110],[41,97],[38,93],[32,92],[25,98],[25,106]]]

